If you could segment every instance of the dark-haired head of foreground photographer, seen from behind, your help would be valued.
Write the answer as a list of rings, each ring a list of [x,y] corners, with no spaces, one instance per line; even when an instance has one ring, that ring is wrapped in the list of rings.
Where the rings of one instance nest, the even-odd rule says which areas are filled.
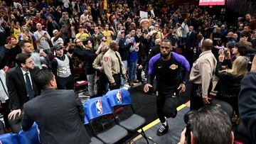
[[[180,144],[232,144],[234,134],[227,113],[217,106],[205,106],[184,116],[187,126]]]

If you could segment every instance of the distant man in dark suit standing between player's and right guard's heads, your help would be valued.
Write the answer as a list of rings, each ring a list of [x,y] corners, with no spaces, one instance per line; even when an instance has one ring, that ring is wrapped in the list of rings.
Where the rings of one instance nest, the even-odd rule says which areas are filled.
[[[189,64],[192,65],[193,63],[193,48],[196,44],[196,33],[193,31],[193,26],[189,26],[188,33],[186,36],[186,48],[184,55],[188,60]]]

